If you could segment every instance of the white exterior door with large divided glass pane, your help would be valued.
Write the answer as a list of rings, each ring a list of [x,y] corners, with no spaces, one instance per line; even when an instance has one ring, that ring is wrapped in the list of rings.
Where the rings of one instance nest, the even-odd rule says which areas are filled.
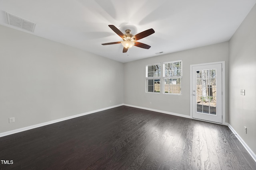
[[[192,117],[222,123],[222,64],[192,66]]]

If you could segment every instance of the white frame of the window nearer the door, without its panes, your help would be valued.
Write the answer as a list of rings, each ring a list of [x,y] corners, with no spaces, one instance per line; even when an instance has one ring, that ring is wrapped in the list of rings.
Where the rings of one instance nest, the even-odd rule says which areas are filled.
[[[167,64],[167,63],[176,63],[176,62],[180,62],[180,64],[181,64],[181,67],[180,67],[180,72],[181,72],[181,75],[180,76],[165,76],[165,64]],[[163,63],[163,85],[162,85],[162,88],[163,88],[163,94],[172,94],[172,95],[182,95],[182,74],[183,74],[183,71],[182,71],[182,60],[176,60],[176,61],[169,61],[169,62],[164,62]],[[180,78],[180,93],[169,93],[169,92],[165,92],[165,80],[166,79],[177,79],[177,78]]]

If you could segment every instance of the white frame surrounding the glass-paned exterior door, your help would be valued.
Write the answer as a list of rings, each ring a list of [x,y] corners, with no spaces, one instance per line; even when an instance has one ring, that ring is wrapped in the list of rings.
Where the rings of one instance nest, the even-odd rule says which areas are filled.
[[[211,123],[216,123],[216,124],[221,124],[221,125],[226,125],[226,90],[225,90],[225,61],[219,61],[219,62],[213,62],[213,63],[202,63],[202,64],[191,64],[190,65],[190,118],[194,119],[192,117],[192,67],[193,66],[203,66],[203,65],[210,65],[210,64],[222,64],[222,123],[216,123],[212,121],[207,121]],[[200,120],[200,119],[195,119],[195,120]],[[201,120],[201,121],[206,121],[206,120]]]

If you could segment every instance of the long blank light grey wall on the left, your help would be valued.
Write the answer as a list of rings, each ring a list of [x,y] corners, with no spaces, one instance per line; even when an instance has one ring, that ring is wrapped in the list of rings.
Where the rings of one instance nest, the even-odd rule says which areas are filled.
[[[2,25],[0,37],[0,133],[123,104],[123,63]]]

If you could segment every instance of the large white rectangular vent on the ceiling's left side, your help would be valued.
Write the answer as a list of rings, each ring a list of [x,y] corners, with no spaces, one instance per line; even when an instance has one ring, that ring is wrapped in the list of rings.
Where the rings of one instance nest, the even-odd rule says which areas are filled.
[[[19,27],[21,29],[25,29],[30,32],[34,32],[36,23],[14,16],[12,14],[9,14],[8,12],[6,12],[6,16],[7,16],[7,22],[9,25],[13,25],[15,27]]]

